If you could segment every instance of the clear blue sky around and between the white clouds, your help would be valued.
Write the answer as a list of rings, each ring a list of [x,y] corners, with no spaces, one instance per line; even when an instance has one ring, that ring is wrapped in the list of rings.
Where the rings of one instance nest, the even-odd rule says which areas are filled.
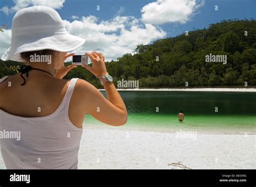
[[[97,16],[100,19],[108,20],[117,14],[121,6],[125,8],[122,15],[141,16],[140,9],[148,3],[154,1],[148,0],[67,0],[63,4],[62,9],[57,9],[62,19],[72,20],[71,16]],[[0,8],[3,6],[14,6],[14,2],[10,0],[1,0]],[[100,6],[100,11],[96,11],[96,6]],[[214,10],[214,6],[218,5],[218,11]],[[224,19],[250,19],[256,16],[256,1],[255,0],[206,0],[197,15],[188,21],[186,24],[167,23],[161,27],[168,33],[167,36],[176,36],[184,31],[190,31],[194,28],[208,27],[209,24],[217,23]],[[11,20],[15,12],[6,15],[0,12],[0,21],[8,24],[11,27]]]

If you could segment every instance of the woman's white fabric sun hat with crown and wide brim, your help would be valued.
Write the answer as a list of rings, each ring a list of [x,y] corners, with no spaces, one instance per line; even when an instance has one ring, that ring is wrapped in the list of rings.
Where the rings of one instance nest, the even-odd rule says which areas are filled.
[[[25,62],[22,52],[52,49],[70,52],[82,46],[85,39],[66,31],[57,11],[48,6],[31,6],[19,10],[12,19],[11,47],[3,54],[3,61]]]

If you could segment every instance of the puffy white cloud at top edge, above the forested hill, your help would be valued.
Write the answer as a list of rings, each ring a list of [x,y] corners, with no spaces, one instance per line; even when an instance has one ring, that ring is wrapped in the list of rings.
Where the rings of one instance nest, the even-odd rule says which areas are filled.
[[[143,6],[142,20],[150,24],[184,24],[204,5],[204,0],[157,0]]]

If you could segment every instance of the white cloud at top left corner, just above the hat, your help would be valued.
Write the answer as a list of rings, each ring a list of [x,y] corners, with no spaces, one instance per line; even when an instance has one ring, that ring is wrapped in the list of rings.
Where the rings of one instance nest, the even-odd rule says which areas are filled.
[[[3,6],[0,11],[4,12],[6,15],[9,15],[11,12],[17,12],[20,9],[24,9],[28,6],[49,6],[53,9],[61,9],[63,7],[63,3],[65,0],[14,0],[15,5],[11,8],[8,8],[8,6]]]

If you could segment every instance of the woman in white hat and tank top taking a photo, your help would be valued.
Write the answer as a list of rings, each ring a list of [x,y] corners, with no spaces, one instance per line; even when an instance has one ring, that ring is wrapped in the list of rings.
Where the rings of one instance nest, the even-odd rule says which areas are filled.
[[[89,113],[112,126],[127,121],[125,104],[107,79],[104,56],[86,53],[84,65],[104,85],[107,99],[90,83],[62,78],[67,52],[84,39],[69,34],[58,13],[46,6],[19,10],[12,20],[11,47],[1,57],[26,63],[22,73],[0,81],[0,132],[21,137],[0,139],[7,169],[77,169],[84,116]],[[51,63],[31,62],[31,55],[48,55]]]

